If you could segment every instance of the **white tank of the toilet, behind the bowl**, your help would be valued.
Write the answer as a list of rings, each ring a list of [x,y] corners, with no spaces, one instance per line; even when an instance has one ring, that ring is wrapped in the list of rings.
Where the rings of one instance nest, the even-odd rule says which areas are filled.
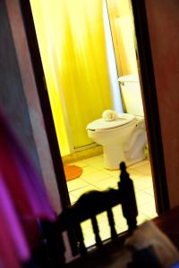
[[[144,116],[141,99],[141,87],[137,74],[124,75],[119,77],[121,93],[124,98],[126,113]]]

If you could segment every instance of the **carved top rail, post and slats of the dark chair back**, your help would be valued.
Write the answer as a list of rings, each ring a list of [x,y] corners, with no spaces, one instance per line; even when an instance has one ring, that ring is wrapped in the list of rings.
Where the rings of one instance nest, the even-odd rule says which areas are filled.
[[[58,231],[56,233],[62,233],[67,230],[68,233],[72,233],[72,253],[77,255],[87,255],[88,251],[84,244],[84,238],[81,230],[81,222],[91,220],[93,232],[95,234],[96,245],[102,246],[102,241],[99,236],[97,215],[103,212],[107,212],[107,219],[111,232],[111,239],[117,238],[117,232],[115,230],[115,220],[112,208],[115,205],[122,205],[122,211],[124,218],[128,224],[128,230],[133,230],[137,226],[136,217],[138,215],[137,205],[135,200],[135,193],[132,180],[126,172],[124,163],[120,164],[121,174],[120,181],[118,182],[118,188],[108,188],[105,191],[89,191],[76,201],[74,205],[66,207],[62,214],[58,215],[55,222],[55,228],[57,226]],[[120,222],[119,222],[120,223]],[[47,232],[47,244],[49,248],[53,248],[50,244],[58,245],[54,231],[53,238],[50,238],[49,231]],[[53,241],[54,240],[54,241]],[[59,241],[58,241],[59,242]],[[75,244],[75,246],[74,246]],[[60,259],[64,260],[64,247]],[[53,255],[54,258],[54,255]],[[56,258],[57,259],[57,258]],[[59,256],[58,256],[59,259]],[[63,264],[61,264],[63,265]]]

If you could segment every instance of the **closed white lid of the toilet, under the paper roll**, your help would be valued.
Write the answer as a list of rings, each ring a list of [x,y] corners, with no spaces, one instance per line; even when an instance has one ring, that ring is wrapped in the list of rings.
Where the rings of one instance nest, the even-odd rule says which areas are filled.
[[[105,121],[103,118],[97,119],[95,121],[90,122],[87,125],[87,130],[107,130],[114,129],[119,126],[123,126],[133,121],[135,116],[129,113],[120,113],[118,114],[118,118],[114,121]]]

